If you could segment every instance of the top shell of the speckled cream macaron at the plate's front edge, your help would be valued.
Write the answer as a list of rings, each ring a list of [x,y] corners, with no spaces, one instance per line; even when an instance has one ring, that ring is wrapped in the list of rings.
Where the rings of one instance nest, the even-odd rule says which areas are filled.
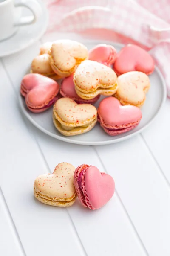
[[[72,127],[86,125],[97,117],[97,110],[91,104],[77,104],[69,98],[61,98],[54,105],[54,115],[62,125]]]

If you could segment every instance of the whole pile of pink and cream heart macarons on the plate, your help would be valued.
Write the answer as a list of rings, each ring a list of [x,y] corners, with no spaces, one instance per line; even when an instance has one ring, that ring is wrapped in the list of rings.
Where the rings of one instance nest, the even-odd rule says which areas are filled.
[[[20,92],[34,113],[53,106],[51,118],[64,136],[86,133],[97,122],[115,136],[132,130],[142,119],[140,108],[153,70],[150,54],[133,44],[117,53],[111,45],[99,44],[88,51],[77,41],[57,40],[40,47]],[[96,109],[101,95],[108,97]]]

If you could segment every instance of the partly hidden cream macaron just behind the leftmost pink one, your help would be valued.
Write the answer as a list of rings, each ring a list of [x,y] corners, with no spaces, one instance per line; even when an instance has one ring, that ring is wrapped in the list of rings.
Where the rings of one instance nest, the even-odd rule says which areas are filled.
[[[51,68],[49,55],[42,54],[35,57],[31,63],[31,73],[41,74],[43,76],[48,76],[54,80],[59,79],[60,77],[54,73]]]

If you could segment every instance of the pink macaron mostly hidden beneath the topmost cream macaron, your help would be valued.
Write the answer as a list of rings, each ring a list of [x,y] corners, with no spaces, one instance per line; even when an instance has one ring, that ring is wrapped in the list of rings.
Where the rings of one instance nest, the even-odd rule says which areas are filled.
[[[68,76],[67,78],[63,79],[62,85],[60,88],[60,94],[65,98],[73,99],[78,104],[94,104],[100,98],[100,95],[97,95],[94,99],[81,99],[75,90],[75,85],[73,81],[73,75]]]

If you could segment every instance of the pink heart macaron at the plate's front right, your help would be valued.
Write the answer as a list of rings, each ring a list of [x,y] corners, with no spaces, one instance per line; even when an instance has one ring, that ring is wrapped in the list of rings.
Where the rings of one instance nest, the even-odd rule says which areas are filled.
[[[132,105],[122,106],[118,99],[103,99],[98,108],[98,121],[104,131],[111,135],[119,135],[134,129],[142,119],[142,112]]]

